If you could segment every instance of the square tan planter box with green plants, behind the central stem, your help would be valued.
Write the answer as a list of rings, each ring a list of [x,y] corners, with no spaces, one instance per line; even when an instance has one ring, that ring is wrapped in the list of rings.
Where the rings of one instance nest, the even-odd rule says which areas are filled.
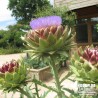
[[[38,58],[32,59],[30,55],[22,58],[22,61],[28,67],[30,77],[35,76],[36,79],[45,81],[52,76],[48,61],[41,61]]]

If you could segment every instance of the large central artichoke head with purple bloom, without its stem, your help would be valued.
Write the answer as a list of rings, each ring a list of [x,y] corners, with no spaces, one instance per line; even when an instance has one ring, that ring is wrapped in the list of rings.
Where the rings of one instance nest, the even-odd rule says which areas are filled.
[[[75,46],[74,34],[61,25],[59,16],[42,17],[30,22],[30,30],[22,39],[34,56],[66,54]]]

